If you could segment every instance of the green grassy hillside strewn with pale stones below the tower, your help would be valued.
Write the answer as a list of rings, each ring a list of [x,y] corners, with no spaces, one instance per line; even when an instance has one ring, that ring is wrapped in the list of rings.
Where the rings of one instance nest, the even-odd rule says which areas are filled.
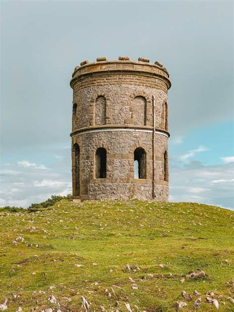
[[[62,200],[43,211],[5,214],[0,217],[0,304],[8,298],[7,311],[19,306],[23,312],[41,311],[57,307],[47,301],[53,294],[62,311],[82,311],[81,296],[91,302],[91,311],[101,311],[100,306],[127,311],[124,303],[134,311],[134,305],[139,311],[174,311],[176,301],[186,301],[182,290],[192,295],[197,290],[200,311],[216,310],[205,302],[207,291],[215,293],[219,311],[231,311],[234,306],[226,297],[232,297],[227,284],[232,280],[232,214],[196,203],[138,200]],[[25,241],[12,244],[18,236]],[[129,272],[126,264],[140,271]],[[180,281],[197,270],[212,279]],[[138,289],[132,289],[129,277]],[[55,287],[49,289],[51,285]],[[191,311],[196,298],[183,311]]]

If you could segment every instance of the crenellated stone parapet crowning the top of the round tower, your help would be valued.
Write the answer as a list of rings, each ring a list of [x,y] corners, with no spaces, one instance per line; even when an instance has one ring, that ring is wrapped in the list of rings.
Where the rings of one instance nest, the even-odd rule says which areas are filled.
[[[80,66],[76,66],[72,75],[70,82],[73,88],[74,82],[78,78],[83,78],[84,76],[94,76],[102,72],[104,75],[108,74],[124,74],[131,72],[132,74],[159,77],[163,78],[169,89],[171,86],[169,80],[169,73],[165,67],[158,61],[154,64],[150,63],[147,58],[139,57],[138,61],[132,61],[128,56],[119,56],[118,60],[107,60],[106,57],[98,57],[96,62],[89,62],[87,60],[82,61]]]

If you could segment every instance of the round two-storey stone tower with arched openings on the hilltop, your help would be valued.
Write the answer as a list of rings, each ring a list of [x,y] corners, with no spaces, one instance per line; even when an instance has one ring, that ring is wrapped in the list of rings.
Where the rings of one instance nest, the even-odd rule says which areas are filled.
[[[120,56],[83,61],[73,88],[73,198],[168,199],[169,74]]]

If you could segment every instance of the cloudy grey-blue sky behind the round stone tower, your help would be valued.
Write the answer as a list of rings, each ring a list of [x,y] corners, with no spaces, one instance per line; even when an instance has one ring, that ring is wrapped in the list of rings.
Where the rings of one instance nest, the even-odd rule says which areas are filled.
[[[0,5],[0,206],[71,194],[72,72],[129,55],[170,73],[169,200],[234,208],[233,1]]]

